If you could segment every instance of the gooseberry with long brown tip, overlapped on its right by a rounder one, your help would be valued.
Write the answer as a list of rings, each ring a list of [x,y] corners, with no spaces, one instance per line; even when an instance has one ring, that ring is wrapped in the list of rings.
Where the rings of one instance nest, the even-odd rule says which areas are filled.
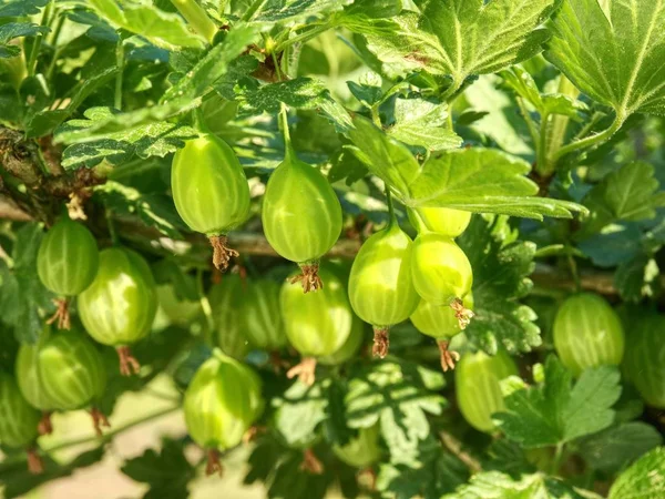
[[[388,355],[388,332],[409,318],[420,301],[411,276],[411,238],[397,221],[360,247],[349,277],[349,299],[358,316],[374,326],[374,355]]]

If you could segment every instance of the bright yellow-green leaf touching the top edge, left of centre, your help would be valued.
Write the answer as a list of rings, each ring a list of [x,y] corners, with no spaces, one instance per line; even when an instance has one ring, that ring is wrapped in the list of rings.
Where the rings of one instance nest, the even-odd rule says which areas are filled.
[[[201,49],[205,44],[203,37],[190,30],[181,16],[154,6],[129,0],[120,3],[116,0],[90,0],[88,3],[116,29],[141,34],[157,47]]]

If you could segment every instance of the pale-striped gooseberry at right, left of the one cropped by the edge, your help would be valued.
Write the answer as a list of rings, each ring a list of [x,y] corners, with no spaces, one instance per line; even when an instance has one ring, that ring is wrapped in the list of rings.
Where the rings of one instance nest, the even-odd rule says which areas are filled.
[[[624,354],[621,319],[610,304],[593,293],[566,298],[556,312],[554,348],[574,376],[589,367],[617,366]]]

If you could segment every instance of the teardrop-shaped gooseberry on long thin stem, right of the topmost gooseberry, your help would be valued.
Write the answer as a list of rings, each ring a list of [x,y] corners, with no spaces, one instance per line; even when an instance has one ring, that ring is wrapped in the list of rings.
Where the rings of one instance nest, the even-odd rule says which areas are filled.
[[[266,185],[262,221],[270,246],[300,266],[291,281],[305,293],[321,287],[318,261],[339,238],[341,205],[321,172],[298,160],[290,144]]]

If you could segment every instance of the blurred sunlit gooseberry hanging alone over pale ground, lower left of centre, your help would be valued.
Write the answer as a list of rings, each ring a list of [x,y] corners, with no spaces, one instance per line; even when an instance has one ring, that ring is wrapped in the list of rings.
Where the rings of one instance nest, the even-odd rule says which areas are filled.
[[[187,430],[206,449],[237,446],[263,408],[258,376],[218,350],[198,368],[185,393]]]

